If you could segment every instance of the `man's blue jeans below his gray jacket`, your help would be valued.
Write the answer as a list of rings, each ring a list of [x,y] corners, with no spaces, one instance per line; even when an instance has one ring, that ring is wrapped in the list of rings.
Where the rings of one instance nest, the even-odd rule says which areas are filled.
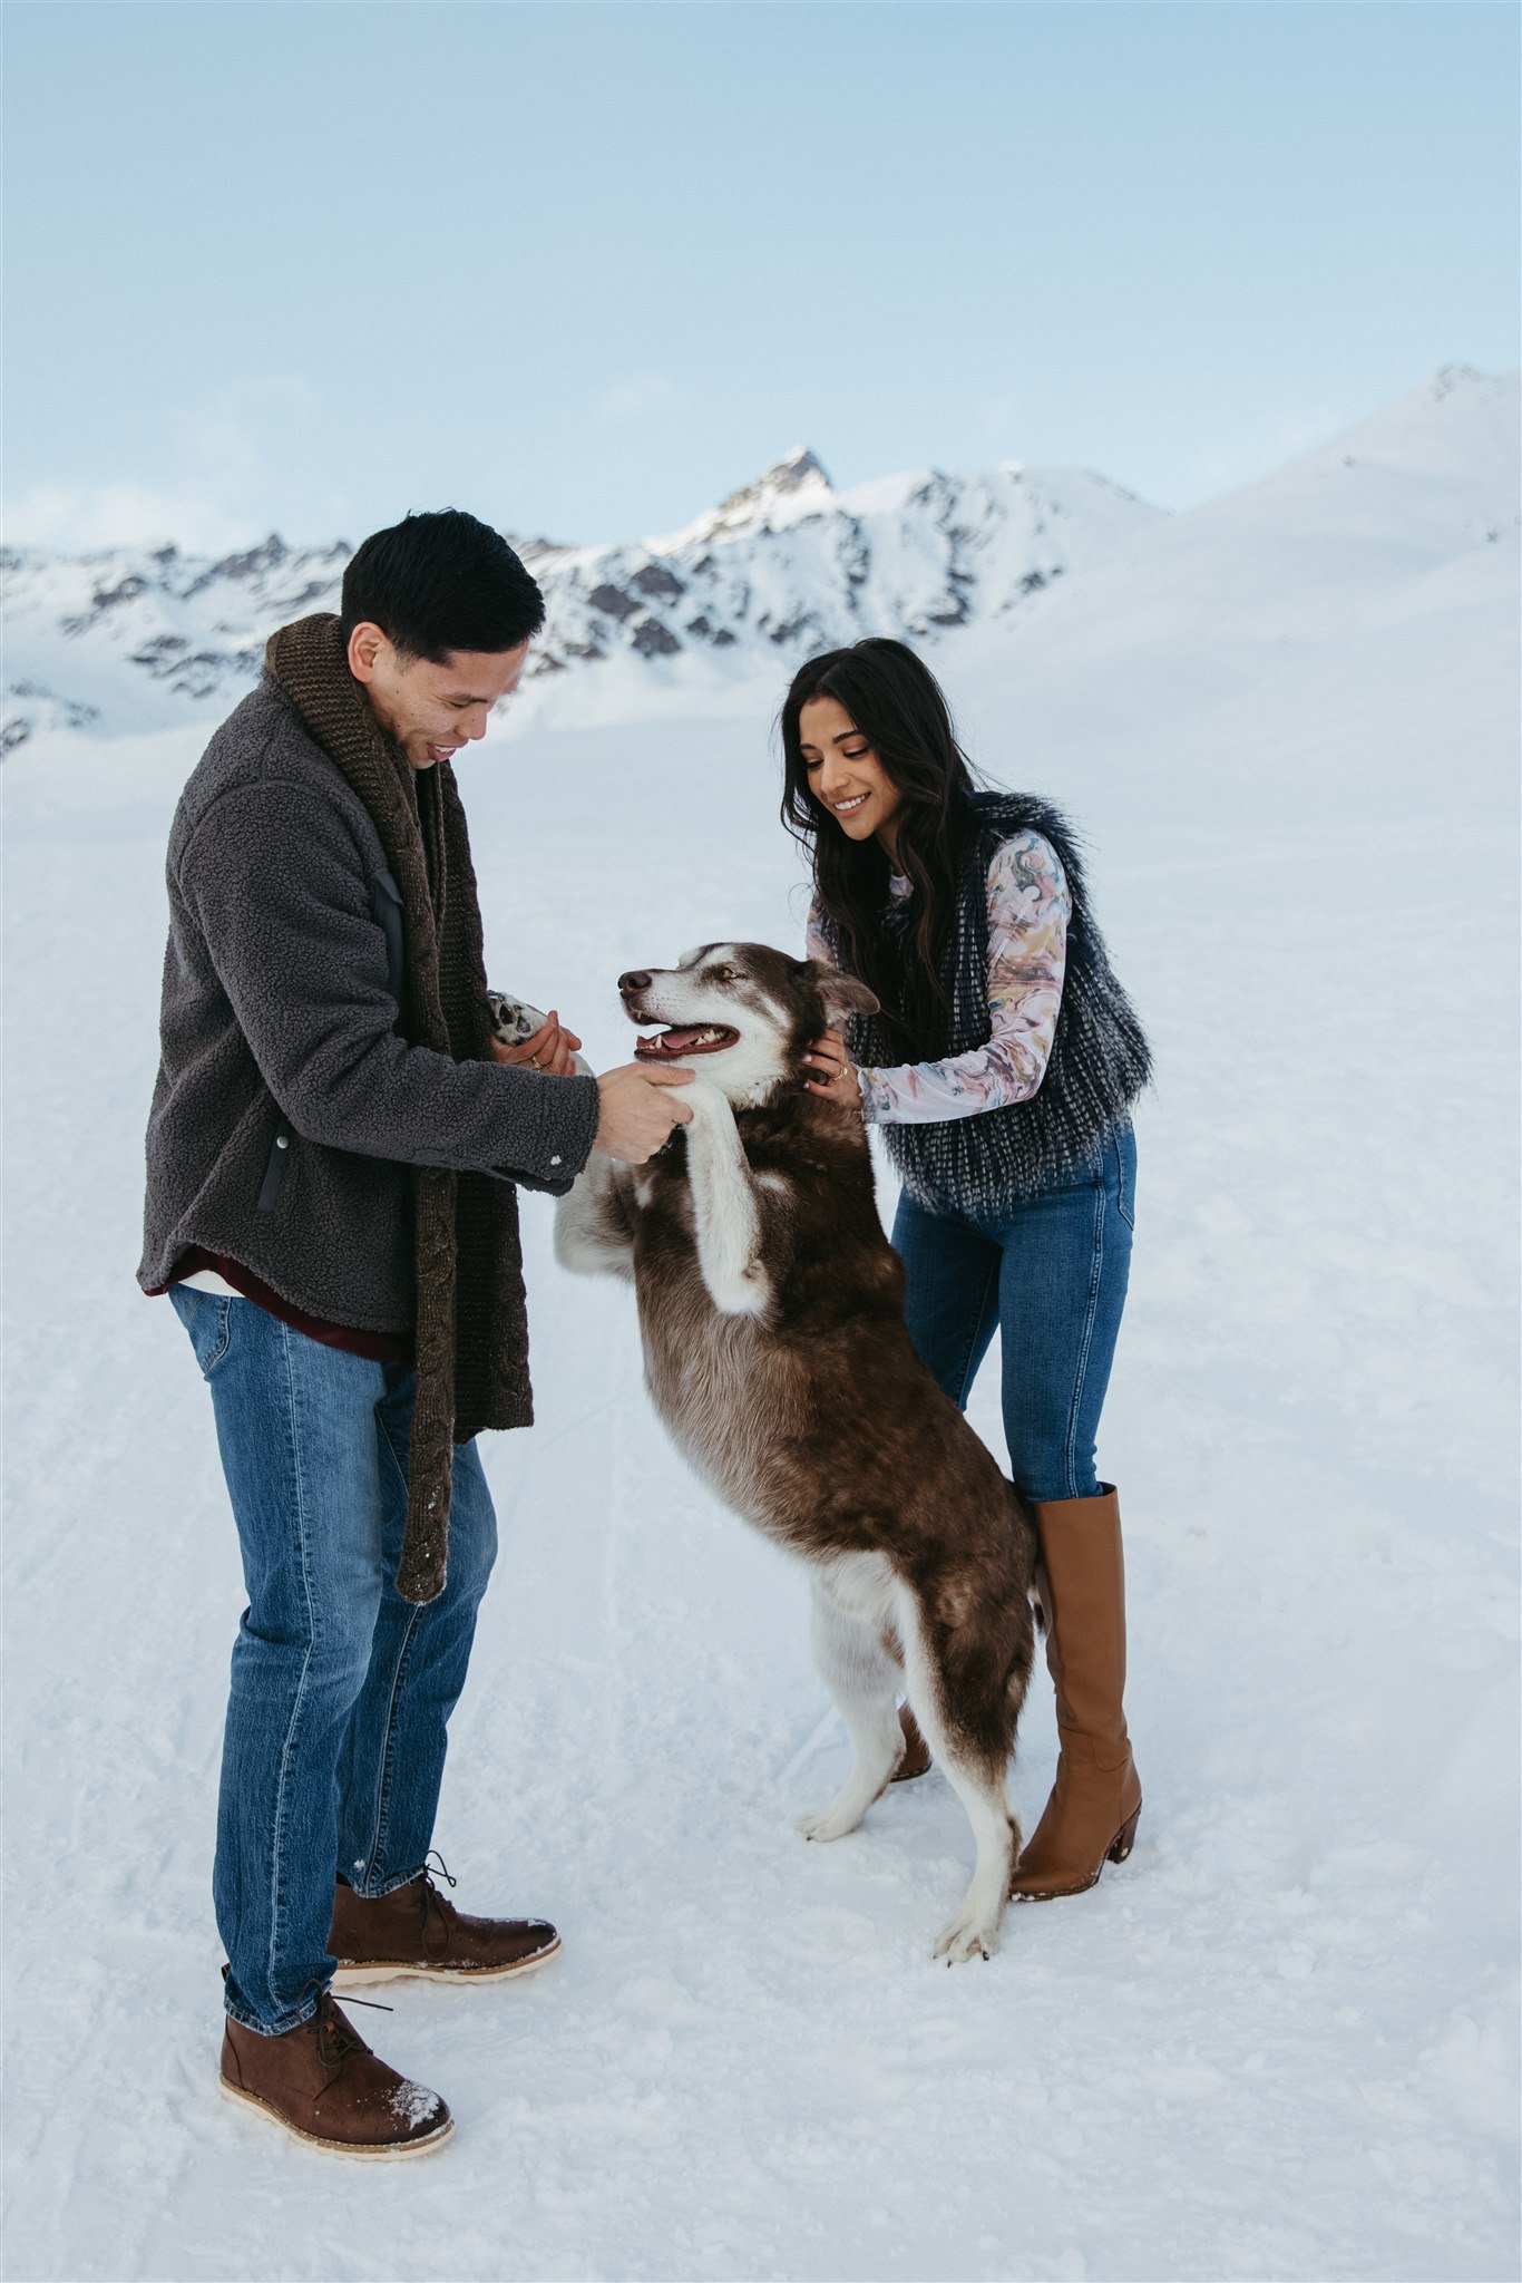
[[[212,1390],[249,1589],[212,1872],[226,2007],[278,2034],[333,1973],[333,1874],[388,1895],[427,1863],[497,1520],[463,1443],[450,1582],[402,1600],[411,1370],[308,1340],[251,1299],[171,1299]]]

